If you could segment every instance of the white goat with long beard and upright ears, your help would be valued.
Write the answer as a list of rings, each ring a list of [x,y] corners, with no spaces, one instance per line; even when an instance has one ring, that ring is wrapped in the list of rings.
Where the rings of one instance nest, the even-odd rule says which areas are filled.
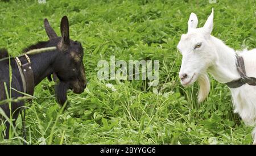
[[[256,77],[256,49],[243,50],[240,53],[225,45],[220,39],[210,35],[213,29],[213,9],[204,27],[197,28],[197,16],[193,12],[188,20],[188,32],[183,34],[177,49],[183,55],[179,72],[181,85],[189,86],[199,83],[199,102],[207,98],[210,82],[207,72],[221,83],[240,79],[237,70],[237,58],[242,56],[246,75]],[[256,126],[256,86],[247,83],[237,88],[230,88],[234,112],[239,113],[247,125]],[[252,133],[253,144],[256,144],[256,127]]]

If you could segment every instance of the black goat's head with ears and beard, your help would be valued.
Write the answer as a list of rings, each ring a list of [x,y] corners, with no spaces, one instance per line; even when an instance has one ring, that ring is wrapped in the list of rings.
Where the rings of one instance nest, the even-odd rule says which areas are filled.
[[[57,75],[60,82],[55,86],[55,94],[58,102],[64,104],[67,100],[67,90],[72,89],[74,93],[81,94],[86,87],[86,77],[82,58],[84,50],[79,41],[69,39],[69,23],[67,16],[61,19],[61,37],[44,19],[44,27],[49,40],[57,47],[59,53],[53,65],[53,74]]]

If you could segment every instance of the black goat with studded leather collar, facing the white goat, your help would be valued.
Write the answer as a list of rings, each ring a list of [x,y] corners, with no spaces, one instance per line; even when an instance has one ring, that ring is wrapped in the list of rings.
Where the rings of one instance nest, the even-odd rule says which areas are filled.
[[[69,23],[67,16],[61,19],[60,29],[61,37],[58,37],[52,27],[49,25],[47,19],[44,19],[44,27],[49,37],[49,41],[39,42],[35,45],[24,49],[24,52],[32,49],[56,47],[56,50],[49,52],[28,55],[31,61],[32,71],[34,73],[34,86],[38,85],[44,78],[51,77],[51,74],[55,74],[59,78],[60,82],[55,86],[55,94],[57,101],[63,105],[67,100],[67,90],[72,89],[76,94],[84,92],[86,87],[85,69],[82,62],[84,56],[84,50],[79,41],[73,41],[69,39]],[[0,49],[0,58],[8,57],[6,49]],[[21,63],[27,62],[27,58],[19,57]],[[11,87],[15,90],[23,92],[23,81],[18,69],[18,63],[14,58],[10,61],[12,68],[12,81]],[[6,86],[10,86],[9,76],[9,60],[0,61],[0,101],[7,99],[4,82]],[[11,90],[11,97],[18,98],[23,96],[19,92]],[[9,91],[10,95],[10,91]],[[23,102],[12,102],[11,109],[9,104],[1,104],[0,107],[6,113],[8,117],[12,115],[12,119],[16,120],[20,107],[24,106]],[[11,110],[11,112],[10,112]],[[3,120],[3,116],[0,115],[0,120]],[[1,124],[1,121],[0,121]],[[15,125],[15,121],[14,121]],[[6,122],[5,138],[9,138],[10,124]]]

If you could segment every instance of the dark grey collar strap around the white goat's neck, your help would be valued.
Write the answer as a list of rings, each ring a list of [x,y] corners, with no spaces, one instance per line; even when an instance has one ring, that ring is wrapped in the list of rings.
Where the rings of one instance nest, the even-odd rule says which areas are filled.
[[[225,84],[230,88],[238,88],[238,87],[241,87],[242,85],[245,85],[245,83],[247,83],[250,86],[256,86],[256,78],[246,76],[245,62],[243,61],[243,57],[236,55],[236,58],[237,58],[237,62],[236,62],[237,71],[240,74],[241,78]]]

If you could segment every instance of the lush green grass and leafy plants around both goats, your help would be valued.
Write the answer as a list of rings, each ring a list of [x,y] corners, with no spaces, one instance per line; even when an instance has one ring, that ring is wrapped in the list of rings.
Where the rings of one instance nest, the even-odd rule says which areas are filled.
[[[48,40],[43,19],[60,34],[67,15],[71,39],[84,49],[85,92],[68,92],[71,106],[61,111],[53,83],[35,88],[27,110],[28,144],[251,144],[251,127],[233,113],[230,91],[212,79],[208,99],[197,103],[198,86],[180,85],[181,54],[176,45],[187,32],[191,12],[202,27],[214,7],[213,35],[235,49],[256,43],[254,1],[37,1],[0,2],[0,47],[12,55],[37,41]],[[159,60],[159,85],[143,81],[99,81],[97,62]],[[111,83],[115,90],[106,84]],[[0,132],[3,127],[0,127]],[[20,117],[10,140],[20,144]]]

